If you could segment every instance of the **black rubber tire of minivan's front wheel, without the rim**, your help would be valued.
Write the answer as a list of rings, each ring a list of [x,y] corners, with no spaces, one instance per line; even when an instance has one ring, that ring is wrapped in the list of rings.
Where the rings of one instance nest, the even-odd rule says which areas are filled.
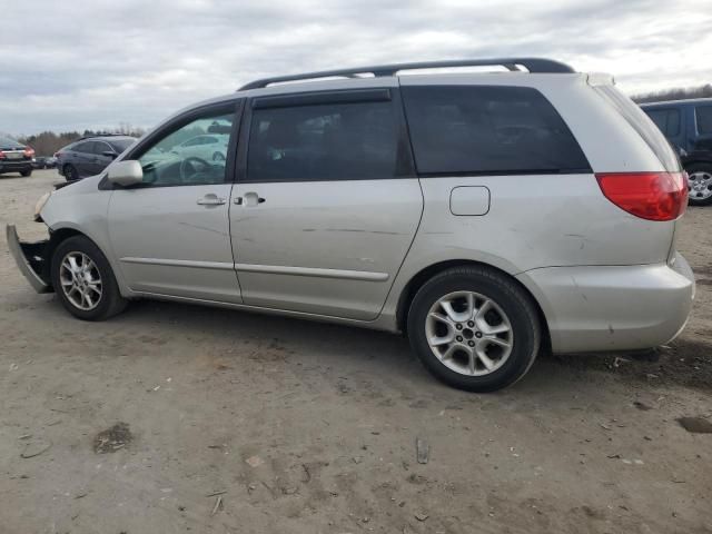
[[[93,261],[96,269],[101,277],[101,296],[99,297],[96,307],[92,309],[81,309],[75,305],[68,295],[62,289],[60,279],[60,268],[62,260],[70,253],[81,253],[88,256]],[[119,286],[116,283],[116,277],[111,270],[111,266],[106,256],[99,250],[89,238],[85,236],[70,237],[60,243],[55,249],[51,263],[51,279],[52,287],[57,293],[62,306],[82,320],[105,320],[113,315],[117,315],[126,308],[127,300],[121,296]]]

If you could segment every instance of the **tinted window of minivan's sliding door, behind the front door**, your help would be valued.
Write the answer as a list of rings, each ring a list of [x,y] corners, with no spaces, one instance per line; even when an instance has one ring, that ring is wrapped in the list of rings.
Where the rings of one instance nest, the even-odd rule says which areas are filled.
[[[248,181],[393,178],[398,147],[392,101],[258,108]]]

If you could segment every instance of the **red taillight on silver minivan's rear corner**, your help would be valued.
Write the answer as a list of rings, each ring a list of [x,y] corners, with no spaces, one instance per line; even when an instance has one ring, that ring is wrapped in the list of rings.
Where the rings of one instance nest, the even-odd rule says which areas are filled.
[[[605,198],[647,220],[674,220],[688,206],[685,172],[596,172]]]

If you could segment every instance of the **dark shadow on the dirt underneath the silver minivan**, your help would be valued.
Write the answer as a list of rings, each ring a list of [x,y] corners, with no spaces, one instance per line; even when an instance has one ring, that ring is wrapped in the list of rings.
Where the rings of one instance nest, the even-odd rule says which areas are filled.
[[[59,308],[57,299],[55,303]],[[335,370],[339,375],[378,376],[393,384],[403,380],[399,385],[426,389],[438,385],[447,388],[427,373],[412,354],[407,339],[397,334],[158,300],[131,303],[123,314],[105,325],[108,330],[119,326],[127,332],[139,325],[150,326],[152,332],[168,330],[169,337],[175,333],[199,335],[210,339],[218,349],[249,340],[258,347],[250,356],[253,359],[260,357],[260,350],[266,354],[278,347],[300,364],[329,366],[339,369]],[[562,382],[570,384],[573,380],[581,386],[610,379],[710,389],[710,348],[708,344],[682,338],[670,347],[646,354],[541,355],[530,374],[506,392],[547,395],[561,390]],[[230,356],[226,354],[225,357]],[[237,356],[233,354],[231,357]]]

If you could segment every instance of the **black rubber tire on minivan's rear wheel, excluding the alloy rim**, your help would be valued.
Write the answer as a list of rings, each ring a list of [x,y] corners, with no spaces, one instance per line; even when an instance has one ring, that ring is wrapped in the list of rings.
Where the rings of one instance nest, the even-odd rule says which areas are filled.
[[[426,320],[431,308],[442,297],[456,291],[473,291],[486,297],[508,318],[511,352],[508,357],[502,358],[501,366],[488,374],[472,376],[453,370],[441,362],[428,344]],[[425,283],[411,304],[407,332],[413,350],[433,375],[458,389],[479,393],[502,389],[522,378],[538,354],[542,337],[536,306],[530,295],[506,276],[477,266],[447,269]]]

